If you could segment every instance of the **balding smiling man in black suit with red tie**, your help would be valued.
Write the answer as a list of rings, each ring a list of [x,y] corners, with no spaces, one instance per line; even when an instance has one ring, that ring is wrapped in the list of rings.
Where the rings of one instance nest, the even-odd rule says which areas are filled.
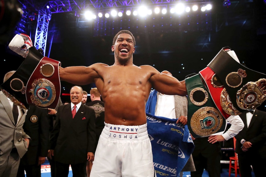
[[[70,90],[70,104],[59,106],[51,133],[48,157],[55,159],[56,177],[84,177],[87,160],[94,160],[95,112],[81,103],[82,88]],[[71,113],[72,112],[72,113]]]

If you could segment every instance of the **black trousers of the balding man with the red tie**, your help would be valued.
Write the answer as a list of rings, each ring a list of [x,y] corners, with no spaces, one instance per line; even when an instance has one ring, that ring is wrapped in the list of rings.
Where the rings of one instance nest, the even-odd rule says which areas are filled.
[[[71,165],[73,177],[84,177],[86,171],[86,162],[77,164],[66,164],[55,162],[56,176],[55,177],[68,177],[69,165]]]

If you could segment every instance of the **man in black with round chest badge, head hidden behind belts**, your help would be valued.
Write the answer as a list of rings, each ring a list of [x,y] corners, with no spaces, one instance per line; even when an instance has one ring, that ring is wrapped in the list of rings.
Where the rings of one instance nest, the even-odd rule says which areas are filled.
[[[45,162],[49,143],[49,123],[47,109],[30,106],[25,122],[24,132],[31,137],[28,151],[21,158],[17,177],[41,177],[41,164]]]

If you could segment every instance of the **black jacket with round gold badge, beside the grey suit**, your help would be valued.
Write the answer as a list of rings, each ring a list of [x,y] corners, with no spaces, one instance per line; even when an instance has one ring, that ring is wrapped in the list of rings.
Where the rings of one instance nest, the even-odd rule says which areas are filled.
[[[20,163],[23,165],[37,164],[38,157],[46,157],[48,152],[49,123],[47,109],[30,106],[23,129],[31,137],[31,141],[28,151],[22,157]]]

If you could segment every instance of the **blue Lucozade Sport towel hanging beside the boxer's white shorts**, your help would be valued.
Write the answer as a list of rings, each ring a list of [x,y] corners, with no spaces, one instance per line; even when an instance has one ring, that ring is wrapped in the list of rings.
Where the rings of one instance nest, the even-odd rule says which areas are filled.
[[[187,125],[146,112],[156,176],[179,176],[194,150]]]

